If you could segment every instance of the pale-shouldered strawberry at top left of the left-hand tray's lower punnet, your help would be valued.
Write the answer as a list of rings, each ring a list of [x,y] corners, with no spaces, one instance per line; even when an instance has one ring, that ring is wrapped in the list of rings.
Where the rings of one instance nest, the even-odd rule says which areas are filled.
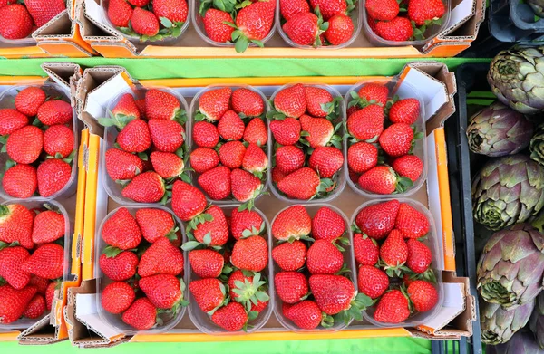
[[[5,244],[17,242],[24,248],[34,248],[32,227],[34,213],[20,204],[0,206],[0,241]]]

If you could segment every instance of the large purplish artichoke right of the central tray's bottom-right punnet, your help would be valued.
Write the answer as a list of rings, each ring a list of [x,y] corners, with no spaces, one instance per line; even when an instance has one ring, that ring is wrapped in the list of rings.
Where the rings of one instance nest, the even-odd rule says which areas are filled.
[[[491,236],[478,262],[476,287],[483,300],[515,309],[542,290],[544,235],[529,224]]]

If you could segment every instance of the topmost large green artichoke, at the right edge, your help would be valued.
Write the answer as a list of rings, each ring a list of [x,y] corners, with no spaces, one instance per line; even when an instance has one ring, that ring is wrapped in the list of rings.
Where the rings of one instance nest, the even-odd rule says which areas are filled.
[[[520,113],[544,110],[544,46],[515,46],[493,58],[488,72],[491,90]]]

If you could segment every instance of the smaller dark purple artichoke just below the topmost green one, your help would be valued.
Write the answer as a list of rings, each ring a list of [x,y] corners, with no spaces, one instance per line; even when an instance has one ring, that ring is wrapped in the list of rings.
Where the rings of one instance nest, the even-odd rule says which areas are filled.
[[[467,127],[471,151],[491,158],[512,155],[527,148],[532,134],[532,123],[501,102],[474,114]]]

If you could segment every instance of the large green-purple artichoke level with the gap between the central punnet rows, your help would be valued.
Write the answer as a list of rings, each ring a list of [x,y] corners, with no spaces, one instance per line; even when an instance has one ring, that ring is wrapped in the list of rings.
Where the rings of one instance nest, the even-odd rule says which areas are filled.
[[[474,219],[491,230],[523,223],[544,206],[544,168],[524,155],[491,158],[472,180]]]

